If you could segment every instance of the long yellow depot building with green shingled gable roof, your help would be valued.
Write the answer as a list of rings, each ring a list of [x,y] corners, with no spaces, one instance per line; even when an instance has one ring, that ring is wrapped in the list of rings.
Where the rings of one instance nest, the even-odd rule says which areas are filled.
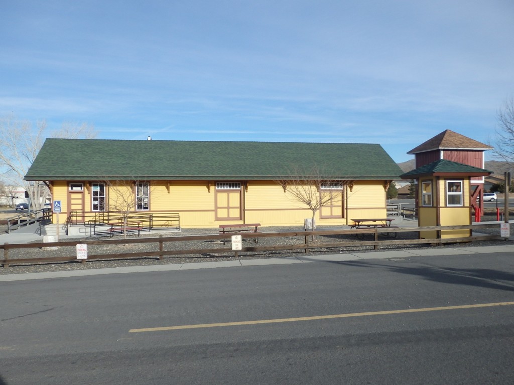
[[[311,211],[277,182],[293,178],[326,180],[332,198],[318,225],[386,217],[386,191],[401,174],[378,144],[47,139],[25,180],[45,181],[61,201],[54,223],[85,222],[128,188],[134,213],[217,227],[303,225]]]

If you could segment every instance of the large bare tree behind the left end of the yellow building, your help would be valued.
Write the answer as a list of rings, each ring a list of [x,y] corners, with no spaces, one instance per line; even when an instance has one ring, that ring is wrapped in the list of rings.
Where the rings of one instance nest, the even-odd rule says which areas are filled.
[[[44,181],[34,183],[23,178],[38,155],[48,127],[45,121],[38,121],[35,127],[28,120],[18,120],[12,116],[0,118],[0,171],[12,185],[23,186],[28,192],[32,209],[39,210],[44,205],[48,188]],[[53,138],[85,138],[96,136],[93,126],[64,122],[61,129],[51,131]]]

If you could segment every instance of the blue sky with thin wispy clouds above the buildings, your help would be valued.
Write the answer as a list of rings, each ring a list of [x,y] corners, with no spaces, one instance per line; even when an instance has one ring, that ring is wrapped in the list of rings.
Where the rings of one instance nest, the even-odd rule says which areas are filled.
[[[481,142],[514,93],[512,0],[0,2],[0,115],[99,139]],[[356,154],[361,156],[362,154]]]

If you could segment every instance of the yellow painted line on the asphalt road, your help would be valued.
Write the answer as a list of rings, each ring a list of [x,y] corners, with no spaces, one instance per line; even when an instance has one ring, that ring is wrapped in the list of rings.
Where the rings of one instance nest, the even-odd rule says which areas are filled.
[[[381,312],[331,314],[331,315],[325,315],[325,316],[262,319],[262,320],[255,320],[255,321],[200,323],[200,324],[195,324],[195,325],[162,326],[161,328],[131,329],[128,332],[129,333],[141,333],[141,332],[161,332],[161,331],[166,331],[166,330],[180,330],[180,329],[219,328],[222,326],[241,326],[241,325],[258,325],[258,324],[262,324],[262,323],[317,321],[320,319],[365,317],[365,316],[378,316],[378,315],[403,314],[403,313],[423,313],[423,312],[436,312],[436,311],[440,311],[440,310],[476,309],[477,307],[510,306],[510,305],[514,305],[514,302],[495,302],[495,303],[479,303],[479,304],[473,304],[473,305],[423,307],[421,309],[386,310],[386,311],[381,311]]]

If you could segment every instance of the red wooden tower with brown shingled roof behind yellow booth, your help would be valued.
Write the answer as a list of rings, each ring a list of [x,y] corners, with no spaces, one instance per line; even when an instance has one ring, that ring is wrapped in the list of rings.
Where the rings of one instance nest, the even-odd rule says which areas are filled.
[[[445,130],[407,153],[414,155],[415,168],[445,159],[483,169],[484,151],[492,148],[460,133]],[[480,216],[483,215],[484,177],[472,177],[470,182],[470,205],[474,213],[480,213],[475,215],[475,220],[480,221]]]

